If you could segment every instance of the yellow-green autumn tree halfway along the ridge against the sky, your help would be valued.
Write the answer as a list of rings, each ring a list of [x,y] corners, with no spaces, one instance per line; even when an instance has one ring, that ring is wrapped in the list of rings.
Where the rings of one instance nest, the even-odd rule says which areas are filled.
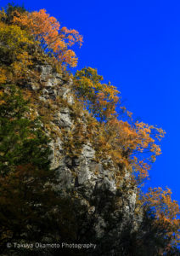
[[[85,104],[100,122],[115,116],[115,107],[120,101],[115,86],[103,84],[103,76],[98,75],[97,69],[85,67],[75,74],[74,89],[76,96]]]

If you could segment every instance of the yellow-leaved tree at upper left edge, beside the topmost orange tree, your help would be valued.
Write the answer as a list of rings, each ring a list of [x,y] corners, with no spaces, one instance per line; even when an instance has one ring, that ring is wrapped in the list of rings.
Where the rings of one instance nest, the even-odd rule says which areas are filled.
[[[7,24],[0,13],[0,81],[17,83],[27,77],[31,77],[32,66],[31,48],[35,45],[31,36],[22,30],[20,26]],[[34,76],[34,74],[33,74]]]

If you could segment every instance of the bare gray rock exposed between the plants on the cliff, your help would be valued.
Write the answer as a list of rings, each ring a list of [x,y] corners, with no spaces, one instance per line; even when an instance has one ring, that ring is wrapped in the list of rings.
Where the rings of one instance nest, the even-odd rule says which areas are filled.
[[[72,108],[59,108],[53,115],[53,125],[57,126],[59,132],[71,131],[75,128],[76,122],[72,118],[74,98],[70,94],[70,85],[73,83],[70,79],[64,82],[62,77],[53,73],[49,65],[38,67],[41,70],[41,81],[44,84],[40,100],[46,102],[47,99],[56,101],[57,96],[62,97]],[[83,117],[82,123],[85,123]],[[86,126],[86,125],[85,125]],[[61,132],[65,138],[65,134]],[[52,139],[50,147],[52,154],[50,160],[52,168],[59,173],[59,185],[57,189],[62,195],[68,196],[75,193],[78,197],[79,205],[84,210],[76,212],[77,218],[82,218],[82,230],[79,236],[82,241],[86,234],[89,234],[89,241],[96,241],[101,244],[97,252],[92,255],[118,255],[115,253],[115,247],[119,247],[121,234],[127,225],[133,223],[133,213],[136,204],[136,189],[126,188],[123,194],[124,183],[129,178],[127,170],[124,172],[124,179],[119,187],[115,181],[116,168],[107,160],[95,160],[95,150],[90,142],[82,144],[82,153],[76,157],[70,157],[64,153],[64,145],[61,137]],[[111,165],[108,165],[110,164]],[[104,166],[111,166],[109,168]],[[107,241],[110,248],[102,254],[102,247],[106,247]],[[89,253],[91,255],[91,252]]]

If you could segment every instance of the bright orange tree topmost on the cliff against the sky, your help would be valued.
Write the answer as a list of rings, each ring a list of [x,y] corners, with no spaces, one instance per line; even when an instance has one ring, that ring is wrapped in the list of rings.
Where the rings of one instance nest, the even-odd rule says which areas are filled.
[[[13,22],[30,32],[44,50],[50,53],[53,50],[53,55],[59,61],[76,67],[76,54],[68,48],[76,43],[82,46],[82,36],[79,32],[65,26],[60,29],[59,21],[48,15],[45,9],[22,14],[16,11]]]

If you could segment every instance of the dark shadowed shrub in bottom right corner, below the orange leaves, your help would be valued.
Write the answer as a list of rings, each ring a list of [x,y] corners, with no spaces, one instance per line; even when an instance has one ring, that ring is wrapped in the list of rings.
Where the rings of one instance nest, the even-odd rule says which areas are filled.
[[[169,226],[156,222],[155,212],[145,207],[141,212],[138,229],[127,233],[124,251],[132,256],[177,256],[179,246],[172,245],[172,237],[167,236]]]

